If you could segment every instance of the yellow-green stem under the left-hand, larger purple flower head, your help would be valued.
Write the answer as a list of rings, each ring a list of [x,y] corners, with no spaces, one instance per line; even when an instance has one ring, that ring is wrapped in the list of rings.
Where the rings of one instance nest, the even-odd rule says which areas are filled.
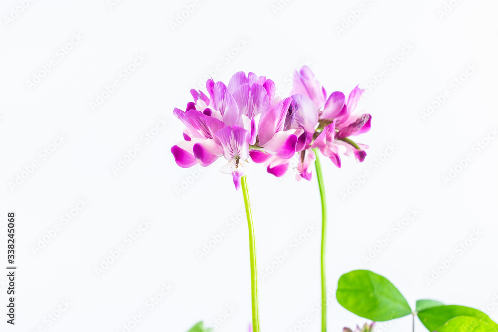
[[[246,216],[249,227],[249,249],[250,249],[250,279],[251,279],[251,296],[252,296],[252,331],[259,331],[259,305],[257,299],[257,266],[256,266],[256,239],[254,237],[254,224],[252,222],[252,213],[250,211],[249,192],[246,182],[246,176],[241,179],[242,194],[244,195],[244,205],[246,206]]]

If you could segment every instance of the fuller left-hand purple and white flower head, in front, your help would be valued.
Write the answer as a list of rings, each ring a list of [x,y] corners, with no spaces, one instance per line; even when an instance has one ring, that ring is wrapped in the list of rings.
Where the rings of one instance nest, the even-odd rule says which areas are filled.
[[[185,125],[184,140],[171,148],[180,167],[206,167],[223,156],[228,163],[221,171],[232,174],[238,189],[250,149],[281,159],[294,156],[304,130],[285,128],[292,98],[277,101],[273,81],[238,72],[228,86],[210,79],[206,89],[209,97],[192,89],[194,101],[187,103],[185,111],[173,111]]]

